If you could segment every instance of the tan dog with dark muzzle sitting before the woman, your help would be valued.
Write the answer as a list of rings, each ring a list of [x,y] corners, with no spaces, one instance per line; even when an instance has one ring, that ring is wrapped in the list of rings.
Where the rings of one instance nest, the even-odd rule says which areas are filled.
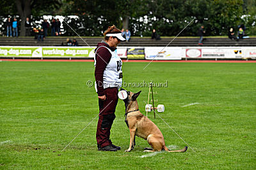
[[[121,89],[124,90],[124,89]],[[126,91],[126,90],[125,90]],[[152,148],[145,148],[144,152],[156,152],[165,150],[166,152],[186,152],[188,146],[182,150],[169,150],[164,143],[164,137],[156,124],[149,118],[140,113],[137,97],[138,93],[127,92],[127,98],[124,99],[125,103],[125,123],[130,131],[130,145],[125,152],[131,152],[135,145],[135,135],[148,141]]]

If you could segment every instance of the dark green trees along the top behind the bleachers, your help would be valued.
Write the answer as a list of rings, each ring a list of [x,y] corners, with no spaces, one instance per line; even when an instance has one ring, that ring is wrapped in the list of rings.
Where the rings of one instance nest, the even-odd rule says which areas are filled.
[[[134,36],[150,36],[152,29],[161,36],[175,36],[195,18],[180,36],[196,36],[200,25],[207,36],[220,36],[241,24],[246,25],[247,34],[255,35],[255,9],[255,0],[4,0],[0,15],[19,15],[22,22],[31,15],[77,15],[65,20],[81,36],[101,36],[112,24],[129,29]],[[75,35],[63,26],[65,35]]]

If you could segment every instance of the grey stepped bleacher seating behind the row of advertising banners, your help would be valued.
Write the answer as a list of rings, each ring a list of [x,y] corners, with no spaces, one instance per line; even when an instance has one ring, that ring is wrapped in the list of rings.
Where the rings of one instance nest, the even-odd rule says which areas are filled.
[[[205,37],[203,46],[256,46],[256,38],[243,39],[241,41],[232,41],[228,38],[207,38]],[[33,37],[19,37],[19,38],[0,38],[0,46],[61,46],[63,42],[65,44],[67,37],[51,37],[48,36],[44,42],[37,41]],[[72,38],[70,38],[72,40]],[[83,38],[86,44],[81,38],[76,37],[79,46],[96,46],[103,38],[87,37]],[[153,40],[150,38],[138,38],[133,37],[129,42],[122,42],[118,46],[166,46],[172,40],[172,43],[168,46],[198,46],[199,38],[162,38],[161,40]]]

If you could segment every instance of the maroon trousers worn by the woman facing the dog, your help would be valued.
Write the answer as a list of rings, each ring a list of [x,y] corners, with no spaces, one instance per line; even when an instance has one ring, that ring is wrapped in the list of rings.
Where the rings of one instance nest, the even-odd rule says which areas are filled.
[[[98,147],[105,147],[112,145],[110,136],[110,129],[115,119],[116,104],[118,102],[118,89],[116,87],[109,87],[104,89],[106,100],[99,99],[99,120],[97,125],[96,139]]]

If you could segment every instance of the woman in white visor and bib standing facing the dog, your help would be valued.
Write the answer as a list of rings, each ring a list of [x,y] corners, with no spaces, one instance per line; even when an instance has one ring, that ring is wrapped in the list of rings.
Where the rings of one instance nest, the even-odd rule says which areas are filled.
[[[115,119],[118,89],[122,86],[122,60],[116,53],[116,46],[125,41],[122,32],[115,25],[104,32],[104,41],[95,48],[95,89],[99,98],[99,121],[97,125],[98,150],[116,151],[119,146],[109,139],[110,129]]]

